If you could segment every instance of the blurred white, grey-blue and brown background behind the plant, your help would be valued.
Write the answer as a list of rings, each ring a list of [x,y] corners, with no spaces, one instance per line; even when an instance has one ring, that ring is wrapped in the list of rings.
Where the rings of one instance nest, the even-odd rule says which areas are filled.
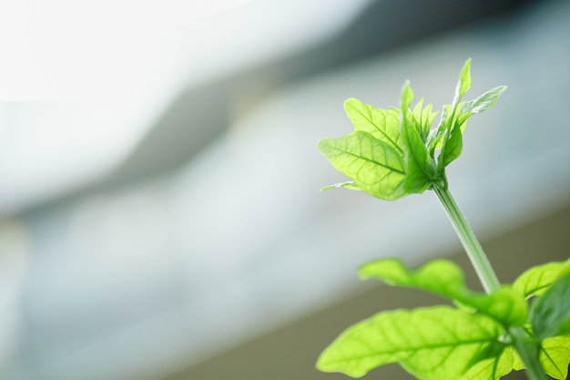
[[[467,99],[509,89],[451,190],[503,282],[565,260],[569,37],[563,0],[3,0],[0,378],[346,378],[314,369],[345,327],[440,302],[361,263],[477,284],[433,193],[320,192],[316,143],[346,98],[451,102],[469,57]]]

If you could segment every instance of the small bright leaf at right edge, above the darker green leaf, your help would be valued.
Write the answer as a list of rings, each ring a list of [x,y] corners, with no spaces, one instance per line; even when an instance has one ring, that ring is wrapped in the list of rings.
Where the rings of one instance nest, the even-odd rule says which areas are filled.
[[[514,280],[513,289],[523,294],[524,298],[541,295],[555,282],[565,268],[570,268],[570,260],[534,266]]]

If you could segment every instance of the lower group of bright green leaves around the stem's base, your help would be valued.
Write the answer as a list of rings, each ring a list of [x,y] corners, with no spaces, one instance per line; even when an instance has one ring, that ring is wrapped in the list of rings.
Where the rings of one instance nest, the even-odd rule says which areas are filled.
[[[547,375],[568,375],[570,260],[531,268],[490,294],[468,290],[461,269],[445,260],[411,271],[385,259],[363,265],[360,275],[435,293],[456,306],[382,312],[354,324],[321,354],[321,371],[361,377],[398,363],[420,380],[497,380],[524,368],[513,333],[520,331]]]

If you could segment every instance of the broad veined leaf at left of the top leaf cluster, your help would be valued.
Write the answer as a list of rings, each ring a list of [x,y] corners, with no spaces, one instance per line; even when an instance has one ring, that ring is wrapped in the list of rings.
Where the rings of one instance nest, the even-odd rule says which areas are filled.
[[[356,131],[338,139],[321,139],[318,148],[359,189],[382,200],[406,195],[402,157],[370,133]]]

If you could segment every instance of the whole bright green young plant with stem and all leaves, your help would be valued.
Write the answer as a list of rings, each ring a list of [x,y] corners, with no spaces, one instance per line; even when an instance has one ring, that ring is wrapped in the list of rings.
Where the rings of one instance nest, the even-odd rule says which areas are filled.
[[[433,260],[415,271],[398,259],[367,263],[360,268],[362,279],[422,289],[455,306],[394,310],[354,324],[321,354],[321,371],[361,377],[378,366],[398,363],[421,380],[495,380],[524,368],[531,380],[568,375],[570,260],[536,266],[502,285],[448,189],[445,168],[462,153],[467,120],[494,107],[506,89],[495,87],[463,101],[470,87],[467,60],[453,103],[443,106],[435,128],[437,112],[423,99],[412,107],[408,83],[400,108],[374,108],[351,98],[344,108],[354,131],[321,139],[318,148],[351,179],[323,189],[362,190],[382,200],[433,190],[485,293],[468,290],[453,262]]]

